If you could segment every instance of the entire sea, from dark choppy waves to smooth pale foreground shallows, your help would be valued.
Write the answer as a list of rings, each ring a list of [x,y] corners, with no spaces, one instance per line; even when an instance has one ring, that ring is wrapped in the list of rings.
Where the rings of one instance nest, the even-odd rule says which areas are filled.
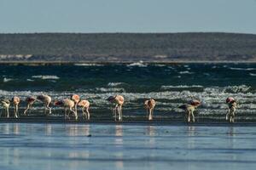
[[[90,122],[65,121],[27,96],[52,100],[79,94],[90,101]],[[124,122],[114,122],[110,95],[125,98]],[[20,118],[0,117],[0,169],[255,169],[256,64],[0,65],[0,96],[21,99]],[[238,102],[225,121],[225,99]],[[155,99],[148,122],[145,99]],[[201,100],[195,123],[178,109]],[[13,107],[10,107],[12,116]]]

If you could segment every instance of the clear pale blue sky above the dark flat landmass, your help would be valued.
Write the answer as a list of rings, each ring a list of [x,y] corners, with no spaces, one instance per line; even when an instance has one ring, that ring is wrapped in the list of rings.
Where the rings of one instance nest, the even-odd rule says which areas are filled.
[[[256,34],[256,0],[0,0],[0,33]]]

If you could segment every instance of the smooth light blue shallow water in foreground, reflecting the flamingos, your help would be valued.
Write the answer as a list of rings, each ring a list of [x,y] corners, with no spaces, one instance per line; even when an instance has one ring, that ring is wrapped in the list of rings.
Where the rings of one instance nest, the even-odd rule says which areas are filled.
[[[256,166],[254,126],[1,123],[0,132],[0,168],[7,170]]]

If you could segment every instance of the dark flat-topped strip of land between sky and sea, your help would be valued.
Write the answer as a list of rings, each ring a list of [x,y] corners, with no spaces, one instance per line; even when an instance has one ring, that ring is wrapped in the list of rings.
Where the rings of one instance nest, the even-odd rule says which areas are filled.
[[[0,34],[0,62],[255,62],[256,35]]]

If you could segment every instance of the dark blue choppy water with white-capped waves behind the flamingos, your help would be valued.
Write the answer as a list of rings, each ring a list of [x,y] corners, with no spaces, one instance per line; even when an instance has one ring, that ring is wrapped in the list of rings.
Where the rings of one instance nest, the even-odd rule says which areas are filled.
[[[239,101],[237,120],[253,120],[256,111],[256,64],[0,65],[0,81],[0,95],[7,98],[79,94],[90,100],[94,116],[109,116],[105,99],[113,94],[124,95],[124,116],[144,115],[148,98],[156,99],[160,117],[179,117],[178,105],[201,99],[197,117],[223,119],[228,96]]]

